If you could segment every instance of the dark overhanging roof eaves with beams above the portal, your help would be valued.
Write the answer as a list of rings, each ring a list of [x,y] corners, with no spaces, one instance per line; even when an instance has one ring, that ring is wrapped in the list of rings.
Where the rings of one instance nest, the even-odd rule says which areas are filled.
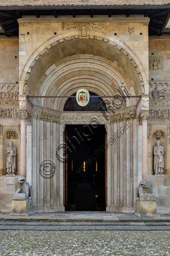
[[[170,18],[170,4],[164,5],[75,5],[75,6],[0,6],[0,34],[18,36],[18,18],[24,15],[138,15],[149,17],[149,35],[162,35]],[[5,32],[4,32],[5,31]]]

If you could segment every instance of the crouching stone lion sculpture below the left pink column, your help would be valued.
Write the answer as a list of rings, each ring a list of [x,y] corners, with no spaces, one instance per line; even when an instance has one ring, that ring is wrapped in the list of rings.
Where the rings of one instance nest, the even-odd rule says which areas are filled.
[[[13,200],[29,200],[32,199],[32,187],[26,182],[25,177],[17,175],[14,182],[15,194]]]

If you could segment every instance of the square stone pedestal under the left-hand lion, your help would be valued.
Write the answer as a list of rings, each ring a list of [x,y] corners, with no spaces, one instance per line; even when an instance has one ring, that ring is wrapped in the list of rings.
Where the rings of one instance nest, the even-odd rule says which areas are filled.
[[[32,200],[12,200],[12,212],[8,216],[30,216],[33,213]]]

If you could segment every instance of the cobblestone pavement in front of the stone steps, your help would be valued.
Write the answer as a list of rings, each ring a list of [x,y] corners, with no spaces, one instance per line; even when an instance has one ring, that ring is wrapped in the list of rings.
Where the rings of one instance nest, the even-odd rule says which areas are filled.
[[[169,231],[1,231],[0,255],[169,256]]]

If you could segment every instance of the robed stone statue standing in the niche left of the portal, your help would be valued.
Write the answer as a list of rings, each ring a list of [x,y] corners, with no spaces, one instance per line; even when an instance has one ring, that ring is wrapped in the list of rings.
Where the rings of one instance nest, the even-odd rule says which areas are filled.
[[[17,171],[17,148],[13,145],[13,141],[10,141],[7,147],[7,175],[15,175]]]

